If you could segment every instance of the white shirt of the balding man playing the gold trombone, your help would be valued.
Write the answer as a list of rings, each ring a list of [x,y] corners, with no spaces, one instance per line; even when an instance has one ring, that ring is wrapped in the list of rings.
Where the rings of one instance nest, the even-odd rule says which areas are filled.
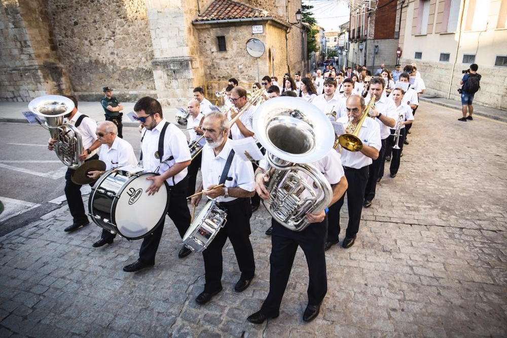
[[[337,122],[343,124],[343,128],[345,129],[348,124],[347,117],[341,117]],[[375,122],[371,117],[367,117],[361,129],[359,129],[358,138],[363,141],[363,144],[373,147],[377,150],[382,148],[382,142],[380,140],[380,127],[377,122]],[[340,154],[340,160],[344,166],[348,166],[351,168],[360,169],[366,165],[372,164],[373,160],[361,153],[360,151],[348,151],[343,149]]]

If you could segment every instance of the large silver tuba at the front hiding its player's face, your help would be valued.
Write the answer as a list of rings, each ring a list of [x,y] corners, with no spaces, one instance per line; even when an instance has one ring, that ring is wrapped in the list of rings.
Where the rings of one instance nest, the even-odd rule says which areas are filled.
[[[280,224],[302,231],[310,224],[306,214],[321,212],[333,198],[329,182],[310,164],[332,149],[331,122],[304,100],[276,97],[256,111],[253,130],[269,163],[263,203]]]

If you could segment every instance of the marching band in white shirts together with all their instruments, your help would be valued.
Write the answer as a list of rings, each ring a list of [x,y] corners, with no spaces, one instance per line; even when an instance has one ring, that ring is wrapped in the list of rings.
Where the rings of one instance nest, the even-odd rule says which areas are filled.
[[[155,264],[167,214],[182,239],[178,257],[202,253],[205,284],[195,301],[204,305],[223,288],[222,249],[227,239],[241,271],[234,290],[241,292],[252,282],[256,264],[250,217],[257,208],[250,197],[260,196],[272,216],[269,294],[247,320],[260,324],[278,317],[298,246],[309,268],[303,320],[313,320],[327,292],[324,251],[340,242],[344,196],[348,196],[349,223],[342,247],[348,249],[356,241],[361,210],[371,206],[386,157],[391,161],[391,178],[398,173],[405,125],[414,118],[413,107],[404,100],[407,89],[386,84],[382,77],[370,80],[365,95],[371,103],[368,107],[348,77],[343,83],[346,95],[337,90],[332,77],[321,80],[319,74],[315,82],[300,80],[297,74],[297,79],[296,85],[287,75],[283,90],[300,90],[300,97],[278,97],[278,87],[268,76],[252,93],[233,83],[215,93],[223,99],[221,109],[213,109],[203,89],[195,88],[187,108],[176,116],[189,139],[182,127],[164,117],[155,98],[139,99],[133,117],[142,126],[137,163],[132,146],[117,137],[116,125],[80,118],[74,97],[34,99],[29,108],[46,119],[51,133],[48,149],[69,167],[65,193],[74,223],[65,231],[89,223],[78,196],[81,185],[93,184],[88,215],[102,229],[93,247],[112,244],[116,234],[142,239],[138,259],[123,268],[132,273]],[[74,132],[72,138],[66,137],[69,131]],[[248,163],[255,162],[248,154],[249,161],[235,153],[235,142],[245,138],[265,151],[258,165]],[[97,157],[106,165],[90,161]],[[202,180],[196,189],[199,169]],[[202,195],[207,197],[195,218],[189,195],[193,213]],[[315,201],[309,205],[309,200]],[[143,217],[147,214],[153,215]]]

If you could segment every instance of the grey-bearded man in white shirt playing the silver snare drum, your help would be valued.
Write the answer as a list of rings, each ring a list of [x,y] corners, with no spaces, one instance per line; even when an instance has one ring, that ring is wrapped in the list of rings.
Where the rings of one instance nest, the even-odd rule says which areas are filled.
[[[237,88],[237,87],[236,87]],[[245,290],[253,279],[255,261],[250,243],[250,197],[253,196],[253,168],[250,163],[234,156],[229,141],[229,121],[224,114],[211,112],[202,126],[206,145],[202,150],[202,183],[197,192],[208,199],[214,199],[227,212],[227,222],[216,234],[214,240],[202,252],[204,259],[205,285],[195,301],[207,303],[215,294],[222,291],[222,248],[229,238],[238,260],[241,276],[234,290]],[[232,154],[232,155],[231,155]],[[232,157],[231,157],[232,156]],[[229,168],[227,168],[229,166]],[[216,185],[225,184],[214,188]],[[201,195],[192,197],[192,205],[197,206]]]

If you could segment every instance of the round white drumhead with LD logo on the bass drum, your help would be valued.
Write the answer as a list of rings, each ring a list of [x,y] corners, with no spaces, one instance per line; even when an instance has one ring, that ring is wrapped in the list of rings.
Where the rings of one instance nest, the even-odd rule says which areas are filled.
[[[130,178],[113,207],[113,223],[126,239],[136,240],[148,235],[167,213],[167,183],[164,182],[155,195],[148,196],[146,192],[153,183],[147,178],[153,176],[157,174],[143,173]]]

